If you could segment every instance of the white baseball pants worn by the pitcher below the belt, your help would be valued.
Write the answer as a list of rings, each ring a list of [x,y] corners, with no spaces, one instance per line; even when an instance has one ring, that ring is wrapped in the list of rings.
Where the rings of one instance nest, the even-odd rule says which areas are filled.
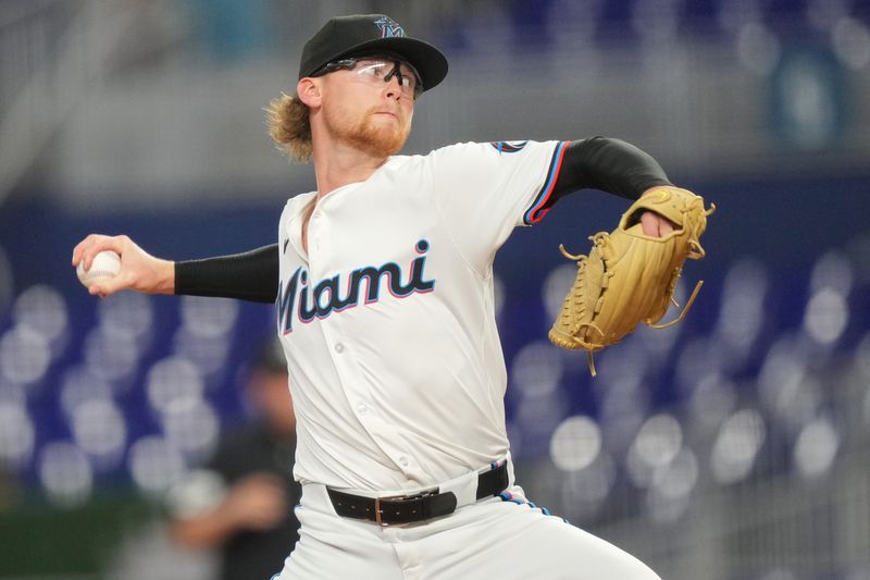
[[[336,515],[307,484],[300,541],[273,580],[660,580],[637,558],[525,499],[490,497],[406,527]]]

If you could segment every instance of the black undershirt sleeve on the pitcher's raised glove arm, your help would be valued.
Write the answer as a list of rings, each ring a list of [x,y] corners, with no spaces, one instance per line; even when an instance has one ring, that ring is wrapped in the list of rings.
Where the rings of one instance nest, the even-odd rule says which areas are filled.
[[[657,185],[672,185],[651,156],[620,139],[592,137],[566,147],[552,194],[543,209],[579,189],[600,189],[637,199]]]

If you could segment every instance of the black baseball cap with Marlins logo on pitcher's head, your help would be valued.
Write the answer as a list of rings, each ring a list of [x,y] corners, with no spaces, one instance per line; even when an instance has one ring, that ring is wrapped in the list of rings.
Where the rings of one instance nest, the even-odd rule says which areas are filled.
[[[343,58],[376,54],[378,50],[406,59],[428,90],[447,76],[447,58],[440,50],[405,35],[405,29],[385,14],[353,14],[331,18],[306,42],[299,62],[299,78],[311,76]]]

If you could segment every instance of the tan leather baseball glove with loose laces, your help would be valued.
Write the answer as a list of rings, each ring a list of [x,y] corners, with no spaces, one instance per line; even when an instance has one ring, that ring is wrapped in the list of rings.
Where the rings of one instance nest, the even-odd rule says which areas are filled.
[[[560,245],[566,258],[576,260],[577,276],[549,332],[550,341],[562,348],[585,349],[595,377],[592,354],[619,343],[638,323],[663,329],[680,322],[703,281],[674,320],[657,324],[673,301],[683,262],[704,258],[699,238],[714,209],[713,205],[705,209],[704,198],[687,189],[655,187],[622,214],[613,232],[589,236],[588,256],[573,256]],[[673,222],[673,232],[662,237],[645,235],[639,221],[645,211]]]

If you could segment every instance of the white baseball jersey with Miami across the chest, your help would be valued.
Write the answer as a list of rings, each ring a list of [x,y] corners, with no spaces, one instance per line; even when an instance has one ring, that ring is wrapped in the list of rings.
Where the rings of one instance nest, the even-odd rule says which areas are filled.
[[[298,480],[415,490],[506,455],[493,259],[546,212],[566,145],[396,156],[364,182],[287,202],[277,328]]]

